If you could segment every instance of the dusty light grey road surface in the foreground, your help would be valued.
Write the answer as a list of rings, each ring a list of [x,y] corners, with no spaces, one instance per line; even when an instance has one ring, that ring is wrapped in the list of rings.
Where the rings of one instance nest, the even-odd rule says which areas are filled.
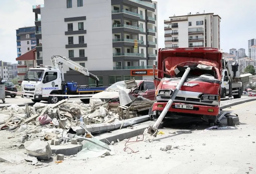
[[[197,118],[180,120],[180,124],[165,124],[164,134],[157,135],[153,142],[136,142],[124,152],[125,141],[113,147],[115,155],[104,158],[72,160],[65,158],[56,165],[36,168],[25,162],[13,167],[0,163],[4,173],[147,173],[147,174],[243,174],[256,173],[256,101],[224,109],[238,114],[241,124],[236,127],[219,127],[201,133],[209,125]],[[177,119],[178,120],[178,119]],[[177,121],[176,120],[176,121]],[[226,118],[222,123],[226,122]],[[171,134],[176,132],[176,134]],[[141,137],[142,138],[142,137]],[[135,140],[135,137],[131,140]],[[166,145],[178,146],[167,153],[161,151]],[[148,159],[147,159],[148,158]],[[56,159],[54,159],[55,161]]]

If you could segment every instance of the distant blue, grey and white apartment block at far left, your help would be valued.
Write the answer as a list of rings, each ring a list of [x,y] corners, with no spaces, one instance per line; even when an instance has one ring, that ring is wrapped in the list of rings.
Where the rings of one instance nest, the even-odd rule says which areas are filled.
[[[18,28],[16,30],[17,57],[27,53],[36,46],[35,26]]]

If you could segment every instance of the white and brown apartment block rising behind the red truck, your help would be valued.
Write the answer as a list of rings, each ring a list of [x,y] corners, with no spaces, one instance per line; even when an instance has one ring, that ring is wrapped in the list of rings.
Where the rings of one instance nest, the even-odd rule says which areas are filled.
[[[220,16],[197,12],[173,16],[164,20],[166,48],[215,47],[220,48]]]

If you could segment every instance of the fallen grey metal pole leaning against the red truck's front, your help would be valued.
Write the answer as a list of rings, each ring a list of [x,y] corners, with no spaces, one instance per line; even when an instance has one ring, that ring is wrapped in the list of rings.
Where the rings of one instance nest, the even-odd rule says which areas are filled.
[[[183,74],[183,76],[181,77],[179,83],[177,84],[176,86],[176,89],[174,90],[170,100],[167,102],[166,106],[164,107],[162,113],[160,114],[160,116],[158,117],[157,121],[155,122],[155,124],[152,126],[149,126],[148,128],[148,134],[150,135],[153,135],[153,136],[157,136],[157,131],[158,131],[158,127],[159,127],[159,124],[161,123],[161,121],[163,120],[163,118],[165,117],[166,113],[169,111],[172,103],[173,103],[173,100],[175,99],[175,97],[177,96],[182,84],[184,83],[184,81],[186,80],[188,74],[189,74],[189,71],[190,71],[190,67],[188,67],[185,71],[185,73]]]

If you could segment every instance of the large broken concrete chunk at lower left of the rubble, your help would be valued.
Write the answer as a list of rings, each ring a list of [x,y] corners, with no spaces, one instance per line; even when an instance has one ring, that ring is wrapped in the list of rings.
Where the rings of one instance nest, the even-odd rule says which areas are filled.
[[[36,139],[31,141],[31,143],[27,141],[25,143],[26,152],[31,155],[35,156],[38,160],[48,160],[52,155],[52,151],[50,145],[47,141],[40,141]],[[28,145],[29,144],[29,145]]]

